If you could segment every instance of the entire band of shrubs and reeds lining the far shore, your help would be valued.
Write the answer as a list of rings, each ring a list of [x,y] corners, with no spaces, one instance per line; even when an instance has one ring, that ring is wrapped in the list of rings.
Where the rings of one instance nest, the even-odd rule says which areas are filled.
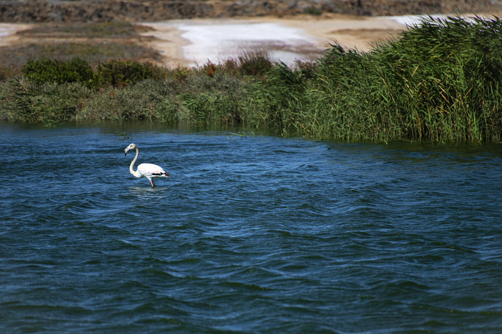
[[[334,44],[294,67],[260,50],[195,68],[32,59],[22,75],[0,69],[0,119],[158,119],[319,139],[501,142],[502,21],[429,17],[409,28],[367,53]]]

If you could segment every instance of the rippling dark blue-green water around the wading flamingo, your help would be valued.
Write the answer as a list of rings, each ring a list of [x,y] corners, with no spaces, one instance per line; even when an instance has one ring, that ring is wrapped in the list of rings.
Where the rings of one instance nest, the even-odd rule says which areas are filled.
[[[125,126],[0,124],[0,332],[502,332],[502,145]]]

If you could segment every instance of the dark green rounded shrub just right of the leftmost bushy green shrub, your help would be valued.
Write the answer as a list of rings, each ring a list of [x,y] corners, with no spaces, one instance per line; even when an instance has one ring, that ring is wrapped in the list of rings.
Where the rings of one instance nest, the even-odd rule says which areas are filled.
[[[121,87],[155,77],[155,71],[149,64],[130,61],[111,60],[97,66],[97,77],[103,85]]]

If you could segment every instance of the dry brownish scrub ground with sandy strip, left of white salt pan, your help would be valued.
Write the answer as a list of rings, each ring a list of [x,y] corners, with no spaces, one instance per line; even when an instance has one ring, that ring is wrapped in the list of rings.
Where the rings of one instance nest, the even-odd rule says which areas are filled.
[[[130,23],[40,24],[16,33],[16,40],[0,47],[2,71],[17,73],[28,59],[71,60],[79,57],[92,66],[111,59],[162,62],[147,46],[154,38],[141,36],[153,29]]]

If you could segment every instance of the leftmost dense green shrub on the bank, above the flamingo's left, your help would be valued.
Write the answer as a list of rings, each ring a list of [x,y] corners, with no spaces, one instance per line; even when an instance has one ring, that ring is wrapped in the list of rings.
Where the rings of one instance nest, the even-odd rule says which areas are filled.
[[[47,58],[29,60],[21,72],[28,80],[39,85],[46,82],[83,82],[92,85],[94,75],[89,63],[77,57],[67,62]]]

